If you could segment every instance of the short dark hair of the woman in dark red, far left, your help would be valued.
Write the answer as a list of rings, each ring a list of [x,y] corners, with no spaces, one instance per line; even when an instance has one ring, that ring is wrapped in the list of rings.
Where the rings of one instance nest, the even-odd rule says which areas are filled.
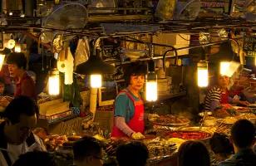
[[[12,52],[7,56],[7,64],[15,64],[18,68],[26,69],[27,58],[22,52]]]

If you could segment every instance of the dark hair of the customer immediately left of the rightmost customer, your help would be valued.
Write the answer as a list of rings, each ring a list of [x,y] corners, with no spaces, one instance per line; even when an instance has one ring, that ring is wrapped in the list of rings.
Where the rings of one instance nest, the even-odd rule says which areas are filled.
[[[226,134],[214,133],[209,139],[210,148],[214,154],[233,154],[234,147]]]

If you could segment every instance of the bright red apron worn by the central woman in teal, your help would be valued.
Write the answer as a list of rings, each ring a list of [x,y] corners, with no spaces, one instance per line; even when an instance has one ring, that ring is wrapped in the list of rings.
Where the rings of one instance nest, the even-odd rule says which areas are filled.
[[[144,105],[143,101],[140,99],[138,101],[134,100],[132,95],[127,90],[121,90],[120,93],[126,93],[126,95],[130,98],[130,100],[133,102],[133,105],[135,107],[135,113],[132,117],[132,119],[127,123],[127,125],[130,127],[130,129],[134,130],[135,132],[140,132],[141,134],[144,134]],[[124,134],[120,129],[118,129],[114,123],[111,137],[126,137],[127,135]]]

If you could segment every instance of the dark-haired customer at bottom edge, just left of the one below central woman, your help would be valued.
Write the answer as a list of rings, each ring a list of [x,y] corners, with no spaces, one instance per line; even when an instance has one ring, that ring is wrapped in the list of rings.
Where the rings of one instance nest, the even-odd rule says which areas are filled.
[[[73,145],[74,163],[76,166],[101,166],[101,145],[93,137],[83,137]]]

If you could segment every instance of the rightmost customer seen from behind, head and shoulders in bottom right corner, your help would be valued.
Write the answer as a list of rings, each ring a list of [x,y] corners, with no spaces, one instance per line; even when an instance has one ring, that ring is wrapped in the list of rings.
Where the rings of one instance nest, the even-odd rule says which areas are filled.
[[[238,120],[231,129],[231,139],[234,146],[234,155],[221,162],[220,166],[256,165],[256,154],[253,151],[255,127],[249,120]]]

